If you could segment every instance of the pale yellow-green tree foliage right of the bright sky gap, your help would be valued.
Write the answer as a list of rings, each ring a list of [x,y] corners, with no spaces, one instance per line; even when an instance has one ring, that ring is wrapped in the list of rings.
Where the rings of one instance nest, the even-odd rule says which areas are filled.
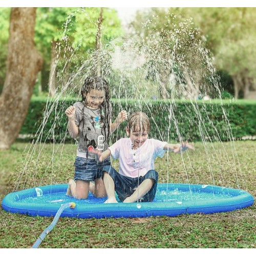
[[[178,32],[176,39],[180,51],[190,60],[193,73],[197,73],[198,67],[205,66],[205,63],[191,47],[197,40],[189,39],[186,34],[194,39],[201,35],[211,53],[204,54],[213,56],[215,68],[227,72],[233,80],[241,81],[239,90],[245,90],[244,87],[249,84],[250,90],[255,91],[255,20],[255,8],[152,8],[137,13],[131,26],[145,41],[152,38],[152,34],[164,35],[166,30]],[[187,29],[188,33],[183,33],[182,28],[186,23],[190,24],[190,29]],[[169,38],[169,35],[164,38]],[[169,47],[174,48],[175,45]],[[165,52],[168,53],[167,49]],[[199,75],[202,77],[203,73]],[[196,80],[196,84],[199,81]]]

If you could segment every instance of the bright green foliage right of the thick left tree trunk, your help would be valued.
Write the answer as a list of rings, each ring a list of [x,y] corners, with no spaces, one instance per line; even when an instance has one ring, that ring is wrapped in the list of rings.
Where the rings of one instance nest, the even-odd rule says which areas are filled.
[[[55,52],[60,86],[67,82],[70,74],[79,70],[95,49],[99,13],[100,8],[38,8],[36,45],[45,59],[42,72],[49,76]],[[104,46],[122,35],[120,20],[114,9],[104,8],[101,35]]]

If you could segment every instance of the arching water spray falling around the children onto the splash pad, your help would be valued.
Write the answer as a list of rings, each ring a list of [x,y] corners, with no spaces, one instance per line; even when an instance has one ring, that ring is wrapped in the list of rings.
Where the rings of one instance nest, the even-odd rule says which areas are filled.
[[[184,132],[183,129],[184,117],[188,116],[189,119],[191,116],[188,126],[198,127],[196,132],[203,143],[203,150],[206,155],[205,162],[207,164],[203,167],[203,172],[208,176],[207,178],[209,181],[207,181],[207,184],[211,182],[211,185],[207,185],[208,188],[212,188],[212,185],[216,185],[217,183],[217,185],[220,185],[222,190],[225,191],[225,188],[229,185],[229,183],[225,181],[225,175],[222,173],[221,164],[218,164],[221,162],[220,157],[227,158],[226,164],[229,165],[230,169],[234,170],[233,183],[239,187],[241,183],[239,182],[238,177],[239,175],[242,177],[241,169],[239,164],[236,164],[238,156],[232,143],[234,138],[224,106],[223,104],[220,104],[219,107],[223,112],[223,119],[221,122],[222,125],[226,127],[226,138],[231,142],[229,146],[233,153],[232,158],[228,158],[226,154],[222,136],[218,129],[212,125],[211,134],[209,134],[209,126],[205,125],[206,122],[212,122],[211,116],[214,116],[214,108],[211,109],[211,106],[206,107],[203,100],[198,101],[195,99],[199,94],[211,93],[220,101],[222,100],[219,79],[216,76],[209,53],[207,49],[204,48],[202,40],[198,39],[198,32],[194,29],[190,29],[189,26],[191,23],[188,21],[187,23],[183,23],[183,27],[181,26],[170,31],[162,30],[161,33],[148,35],[147,41],[138,42],[137,38],[129,38],[125,39],[122,44],[113,40],[109,42],[108,45],[101,45],[100,38],[103,35],[103,27],[101,27],[103,22],[102,11],[103,9],[101,9],[95,26],[97,30],[97,43],[95,49],[92,52],[87,53],[84,61],[81,61],[81,65],[79,63],[79,67],[73,65],[74,69],[70,71],[70,73],[59,72],[58,78],[61,86],[58,88],[55,97],[48,98],[46,110],[43,114],[44,117],[38,129],[38,133],[36,134],[36,139],[33,141],[31,148],[29,148],[27,157],[24,161],[24,168],[19,172],[16,186],[13,191],[14,194],[5,198],[3,201],[5,205],[3,205],[3,208],[9,210],[8,203],[15,204],[18,202],[18,199],[13,202],[13,199],[11,198],[13,195],[14,197],[16,197],[15,195],[24,197],[24,194],[20,195],[16,193],[16,191],[20,189],[27,189],[29,187],[41,186],[49,183],[62,183],[62,181],[60,182],[60,180],[57,179],[58,175],[56,175],[58,170],[61,171],[61,168],[58,167],[60,166],[59,163],[62,160],[62,150],[68,137],[67,130],[64,132],[64,136],[63,133],[58,134],[59,131],[57,130],[58,122],[61,119],[60,116],[65,110],[65,100],[62,99],[66,99],[69,96],[74,97],[74,95],[77,97],[84,78],[95,73],[108,77],[112,86],[112,98],[113,101],[115,100],[117,108],[120,109],[122,104],[125,104],[125,107],[129,110],[136,109],[136,111],[144,111],[150,115],[152,124],[154,125],[155,136],[158,139],[168,141],[177,140],[177,142],[181,141],[184,133],[186,136],[186,131]],[[168,18],[170,19],[170,23],[172,23],[171,19],[174,17],[170,15]],[[147,26],[150,24],[151,22],[144,24],[144,29],[146,30]],[[67,27],[68,25],[69,24],[67,23]],[[66,47],[66,49],[68,49],[68,47]],[[72,54],[67,54],[67,56],[75,56],[76,50],[77,52],[79,51],[79,49],[73,49]],[[66,63],[71,62],[71,59],[66,60]],[[161,97],[165,97],[166,100],[162,100]],[[186,99],[187,102],[184,103],[183,110],[177,112],[178,101],[184,99]],[[158,109],[159,113],[156,113],[153,106],[158,103],[158,100],[160,102]],[[131,106],[132,104],[130,104],[130,101],[134,102],[133,106]],[[190,104],[189,108],[187,107],[188,104]],[[165,116],[162,113],[164,113]],[[206,114],[202,115],[202,113]],[[54,117],[52,117],[52,115],[54,115]],[[159,129],[160,122],[166,124],[166,130]],[[51,124],[51,127],[47,131],[45,128],[49,123]],[[118,133],[120,132],[117,131],[116,135],[114,135],[116,137],[113,136],[114,140],[120,136]],[[55,143],[57,138],[60,138],[59,145]],[[40,161],[42,159],[44,160],[43,152],[47,140],[54,142],[52,144],[53,154],[47,168],[45,167],[42,170],[40,169]],[[218,146],[215,146],[215,141],[218,142]],[[37,147],[39,147],[38,153]],[[224,148],[223,156],[218,155],[218,147]],[[190,184],[193,182],[197,182],[197,184],[205,182],[205,180],[202,181],[199,176],[194,177],[194,171],[198,166],[194,167],[190,164],[189,159],[187,164],[183,159],[186,155],[182,155],[181,157],[185,173],[185,179],[183,179],[182,182],[188,183],[188,188],[191,187]],[[167,184],[173,182],[169,179],[170,161],[171,159],[168,159],[166,164]],[[194,176],[188,173],[188,169],[192,170],[191,173],[193,173]],[[213,170],[216,170],[216,172],[214,173]],[[67,175],[69,174],[66,174],[66,176]],[[34,177],[32,184],[29,183],[29,181],[32,180],[31,177]],[[37,177],[38,179],[40,178],[39,181],[37,180]],[[181,176],[178,178],[181,179]],[[241,179],[243,179],[243,177]],[[242,180],[242,185],[243,183],[244,181]],[[67,189],[65,184],[59,185],[61,187],[64,186],[64,190]],[[168,200],[172,200],[172,197],[176,195],[175,193],[178,193],[178,191],[175,191],[174,194],[167,193],[170,187],[173,187],[172,184],[169,184],[167,188],[164,187],[166,191],[165,194],[163,193],[165,199],[161,199],[161,202],[156,203],[165,206]],[[243,189],[246,189],[245,185],[243,186]],[[49,191],[52,196],[54,195],[52,187],[47,191]],[[212,197],[215,197],[215,194],[212,191],[213,190],[211,190]],[[245,195],[244,191],[241,191],[241,195]],[[249,198],[248,204],[253,202],[253,199],[250,196]],[[40,198],[37,199],[40,200]],[[243,200],[244,199],[245,198],[243,197]],[[10,201],[8,202],[7,200]],[[59,198],[56,198],[56,200],[59,200]],[[63,198],[63,200],[66,200],[66,198]],[[176,201],[176,205],[182,205],[182,203],[180,204],[181,200]],[[50,200],[50,202],[52,202],[52,200]],[[151,208],[155,207],[155,205],[155,202],[152,202],[151,205],[148,205],[147,207]],[[39,209],[39,211],[34,211],[35,214],[38,214],[38,212],[41,214],[40,206],[36,205],[36,201],[34,202],[34,207],[38,207]],[[78,210],[80,209],[79,207],[77,207]],[[112,214],[112,211],[115,212],[118,207],[127,207],[126,211],[132,212],[131,208],[127,205],[120,206],[120,204],[118,204],[115,206],[107,206],[99,202],[97,207],[99,207],[99,210],[104,209],[110,215]],[[140,210],[143,209],[144,206],[141,204]],[[135,211],[136,214],[139,213],[137,207],[135,208]],[[92,212],[94,212],[93,209]],[[91,218],[92,212],[88,212],[88,215],[86,215],[85,218]],[[127,212],[125,217],[129,215]],[[65,211],[62,213],[65,214]],[[144,216],[148,216],[149,214],[150,211],[145,211]],[[163,211],[162,214],[166,214],[166,211]],[[104,214],[102,214],[102,216],[104,216]],[[59,216],[56,215],[56,218],[59,218]],[[49,230],[46,232],[49,232]]]

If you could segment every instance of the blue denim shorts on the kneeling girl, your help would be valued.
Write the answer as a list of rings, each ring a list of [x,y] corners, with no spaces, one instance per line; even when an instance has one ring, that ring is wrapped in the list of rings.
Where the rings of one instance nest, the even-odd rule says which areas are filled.
[[[94,159],[76,157],[74,180],[93,181],[99,179],[102,177],[103,167],[110,164],[110,158],[97,163]]]

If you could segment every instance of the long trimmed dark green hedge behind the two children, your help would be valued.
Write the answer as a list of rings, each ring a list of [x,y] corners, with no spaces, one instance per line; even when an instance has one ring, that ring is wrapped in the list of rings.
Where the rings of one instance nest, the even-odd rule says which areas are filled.
[[[65,141],[67,133],[65,110],[77,99],[33,97],[21,134],[42,141]],[[113,99],[113,121],[125,109],[129,114],[143,111],[151,119],[150,137],[165,141],[177,138],[190,141],[230,140],[256,135],[256,102],[245,100],[171,101]],[[125,136],[125,123],[113,134],[113,140]]]

